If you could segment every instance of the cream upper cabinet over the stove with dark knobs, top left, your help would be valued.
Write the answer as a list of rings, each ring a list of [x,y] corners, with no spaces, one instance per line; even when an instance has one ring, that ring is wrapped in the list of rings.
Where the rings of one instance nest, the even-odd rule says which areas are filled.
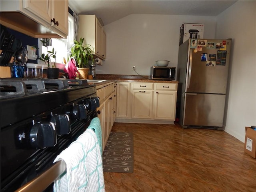
[[[1,0],[0,3],[4,26],[34,38],[67,38],[68,0]]]

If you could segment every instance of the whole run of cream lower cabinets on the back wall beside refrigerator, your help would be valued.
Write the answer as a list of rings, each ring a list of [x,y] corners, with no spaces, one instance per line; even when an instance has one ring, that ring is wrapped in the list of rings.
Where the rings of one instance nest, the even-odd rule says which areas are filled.
[[[177,85],[118,82],[116,122],[174,124]]]

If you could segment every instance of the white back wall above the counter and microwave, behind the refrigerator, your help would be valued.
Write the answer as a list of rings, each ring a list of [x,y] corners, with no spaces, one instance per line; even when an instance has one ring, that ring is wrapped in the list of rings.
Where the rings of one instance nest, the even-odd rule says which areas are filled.
[[[216,17],[132,14],[104,26],[106,61],[96,74],[150,75],[159,59],[177,66],[180,26],[183,22],[203,23],[204,38],[215,37]]]

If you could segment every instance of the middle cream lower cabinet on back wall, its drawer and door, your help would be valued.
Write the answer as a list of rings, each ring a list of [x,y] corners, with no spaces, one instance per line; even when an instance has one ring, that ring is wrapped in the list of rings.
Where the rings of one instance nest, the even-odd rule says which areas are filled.
[[[153,118],[153,83],[132,83],[132,118]]]

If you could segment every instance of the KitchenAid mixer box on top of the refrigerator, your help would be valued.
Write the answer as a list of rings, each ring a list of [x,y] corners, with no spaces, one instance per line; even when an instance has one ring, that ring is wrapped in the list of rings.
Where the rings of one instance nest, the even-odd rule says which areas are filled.
[[[194,37],[191,37],[193,39],[203,39],[204,38],[204,24],[200,23],[183,23],[180,27],[180,45],[184,43],[186,40],[190,38],[189,30],[195,30],[198,31],[195,34]]]

